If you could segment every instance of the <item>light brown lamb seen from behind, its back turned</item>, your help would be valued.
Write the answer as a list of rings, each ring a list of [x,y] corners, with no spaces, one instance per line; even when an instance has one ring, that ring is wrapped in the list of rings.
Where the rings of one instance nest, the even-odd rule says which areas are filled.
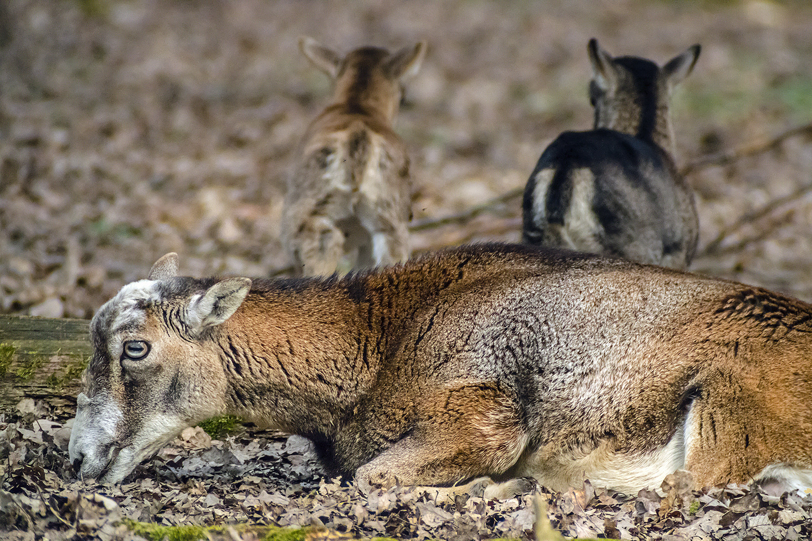
[[[287,182],[283,235],[296,273],[329,275],[408,259],[412,182],[392,124],[401,81],[417,73],[425,42],[341,57],[312,38],[302,53],[334,83],[332,105],[310,124]]]

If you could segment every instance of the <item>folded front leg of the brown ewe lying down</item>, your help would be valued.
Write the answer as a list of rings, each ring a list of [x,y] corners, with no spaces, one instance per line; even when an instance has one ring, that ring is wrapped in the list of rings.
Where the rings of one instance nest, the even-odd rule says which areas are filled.
[[[469,492],[482,480],[476,478],[508,470],[528,439],[512,397],[489,384],[456,384],[429,397],[412,434],[358,468],[356,476],[384,486],[429,485],[439,496]],[[509,492],[515,483],[503,488]],[[486,488],[486,496],[503,492]]]

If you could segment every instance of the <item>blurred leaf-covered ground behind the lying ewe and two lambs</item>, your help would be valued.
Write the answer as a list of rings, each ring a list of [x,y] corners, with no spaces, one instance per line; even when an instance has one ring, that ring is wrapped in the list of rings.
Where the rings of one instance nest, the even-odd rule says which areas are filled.
[[[812,301],[812,135],[759,146],[812,122],[810,28],[809,0],[2,0],[0,312],[88,318],[167,251],[192,276],[283,275],[285,178],[330,98],[301,35],[429,41],[396,126],[416,252],[519,240],[510,194],[591,127],[590,37],[660,64],[700,43],[672,99],[692,270]]]

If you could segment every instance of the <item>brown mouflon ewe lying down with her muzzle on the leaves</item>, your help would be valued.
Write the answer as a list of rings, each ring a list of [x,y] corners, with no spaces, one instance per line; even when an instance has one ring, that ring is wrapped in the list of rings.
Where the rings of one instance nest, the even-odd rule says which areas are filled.
[[[812,305],[570,251],[482,244],[303,279],[176,276],[163,256],[93,317],[71,433],[124,479],[219,414],[313,440],[369,483],[532,476],[637,492],[812,487]],[[495,485],[498,486],[498,485]]]

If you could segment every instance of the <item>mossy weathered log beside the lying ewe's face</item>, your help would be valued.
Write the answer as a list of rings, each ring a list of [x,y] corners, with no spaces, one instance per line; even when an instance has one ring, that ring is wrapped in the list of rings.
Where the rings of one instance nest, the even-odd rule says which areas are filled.
[[[0,411],[23,398],[76,407],[93,348],[88,320],[0,315]]]

